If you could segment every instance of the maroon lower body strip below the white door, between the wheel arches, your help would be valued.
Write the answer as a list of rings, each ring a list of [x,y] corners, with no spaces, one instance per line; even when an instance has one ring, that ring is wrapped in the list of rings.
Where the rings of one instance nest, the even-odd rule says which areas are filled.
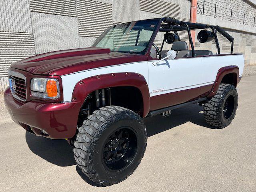
[[[150,111],[206,97],[213,84],[150,97]]]

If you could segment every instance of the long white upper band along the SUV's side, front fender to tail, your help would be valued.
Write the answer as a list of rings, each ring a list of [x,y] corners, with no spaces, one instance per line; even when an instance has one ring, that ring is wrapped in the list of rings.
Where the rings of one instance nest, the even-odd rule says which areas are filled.
[[[152,62],[107,66],[61,76],[64,102],[71,101],[77,82],[96,75],[120,72],[142,74],[148,84],[150,97],[152,97],[213,84],[218,70],[224,66],[238,66],[239,76],[242,75],[244,70],[244,58],[242,55],[164,60],[159,62],[157,66],[154,66]]]

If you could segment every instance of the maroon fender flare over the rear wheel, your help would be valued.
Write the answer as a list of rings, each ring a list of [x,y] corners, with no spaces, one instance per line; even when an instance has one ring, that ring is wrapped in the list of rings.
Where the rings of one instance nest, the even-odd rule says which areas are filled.
[[[210,94],[207,97],[212,97],[216,94],[219,86],[220,86],[220,82],[222,81],[223,77],[226,74],[230,74],[230,73],[235,73],[236,74],[236,79],[233,79],[235,82],[235,87],[237,86],[238,82],[239,82],[239,68],[236,65],[230,65],[230,66],[226,66],[226,67],[222,67],[218,70],[217,76],[216,76],[216,80],[214,82],[214,85],[212,87],[212,90],[210,92]]]

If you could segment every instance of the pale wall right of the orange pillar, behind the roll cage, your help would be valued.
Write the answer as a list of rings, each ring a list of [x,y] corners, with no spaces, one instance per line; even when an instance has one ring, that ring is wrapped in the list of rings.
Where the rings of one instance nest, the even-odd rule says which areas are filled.
[[[246,66],[256,65],[255,17],[256,5],[250,0],[198,0],[197,22],[225,28],[234,37],[234,52],[244,54]],[[229,53],[230,42],[221,35],[218,37],[221,52]],[[205,44],[196,42],[196,47],[216,52],[214,41]]]

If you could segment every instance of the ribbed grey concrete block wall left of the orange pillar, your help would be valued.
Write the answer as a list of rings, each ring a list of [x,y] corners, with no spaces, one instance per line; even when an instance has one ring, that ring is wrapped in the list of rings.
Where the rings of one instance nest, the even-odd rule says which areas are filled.
[[[109,26],[162,16],[189,20],[190,0],[0,0],[0,92],[13,62],[88,47]]]

